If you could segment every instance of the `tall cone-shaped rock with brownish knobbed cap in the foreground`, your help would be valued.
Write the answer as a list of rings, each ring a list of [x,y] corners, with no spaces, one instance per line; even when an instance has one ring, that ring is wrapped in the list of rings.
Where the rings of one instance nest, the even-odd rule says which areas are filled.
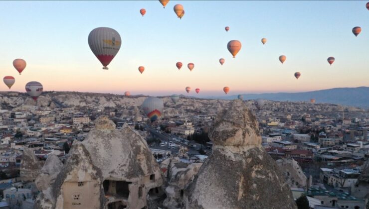
[[[184,191],[188,209],[296,209],[275,161],[261,147],[255,116],[233,101],[209,132],[213,153]]]

